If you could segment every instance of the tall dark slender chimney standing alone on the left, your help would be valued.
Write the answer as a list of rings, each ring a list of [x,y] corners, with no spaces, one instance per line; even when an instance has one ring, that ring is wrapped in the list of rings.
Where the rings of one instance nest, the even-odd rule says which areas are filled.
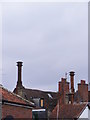
[[[18,66],[18,81],[17,81],[17,87],[22,87],[22,63],[23,62],[20,62],[18,61],[17,62],[17,66]]]

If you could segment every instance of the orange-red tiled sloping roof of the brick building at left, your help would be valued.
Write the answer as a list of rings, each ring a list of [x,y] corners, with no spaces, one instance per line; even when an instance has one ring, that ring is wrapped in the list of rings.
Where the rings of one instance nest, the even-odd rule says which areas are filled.
[[[5,89],[4,87],[0,86],[0,94],[2,95],[2,100],[11,101],[15,103],[22,103],[22,104],[29,104],[34,106],[34,104],[28,100],[25,100],[19,95]]]

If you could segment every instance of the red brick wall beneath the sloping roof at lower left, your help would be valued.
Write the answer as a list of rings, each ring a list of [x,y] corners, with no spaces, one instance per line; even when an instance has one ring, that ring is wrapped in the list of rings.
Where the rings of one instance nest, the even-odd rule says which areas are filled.
[[[30,108],[2,105],[2,118],[8,115],[14,118],[32,118],[32,110]]]

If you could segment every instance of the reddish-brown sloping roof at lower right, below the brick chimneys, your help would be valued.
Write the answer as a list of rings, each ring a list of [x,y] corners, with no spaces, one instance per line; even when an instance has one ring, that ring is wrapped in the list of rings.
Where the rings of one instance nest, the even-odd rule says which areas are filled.
[[[52,111],[50,118],[59,119],[75,119],[79,118],[81,113],[86,108],[87,104],[63,104],[61,106],[56,106]],[[58,109],[59,108],[59,109]]]

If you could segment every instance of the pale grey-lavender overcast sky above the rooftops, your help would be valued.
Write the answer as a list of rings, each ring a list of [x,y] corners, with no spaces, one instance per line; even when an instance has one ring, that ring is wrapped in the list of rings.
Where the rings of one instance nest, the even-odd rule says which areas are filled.
[[[88,81],[88,3],[3,3],[2,84],[13,90],[17,61],[27,88],[57,91],[75,71]]]

